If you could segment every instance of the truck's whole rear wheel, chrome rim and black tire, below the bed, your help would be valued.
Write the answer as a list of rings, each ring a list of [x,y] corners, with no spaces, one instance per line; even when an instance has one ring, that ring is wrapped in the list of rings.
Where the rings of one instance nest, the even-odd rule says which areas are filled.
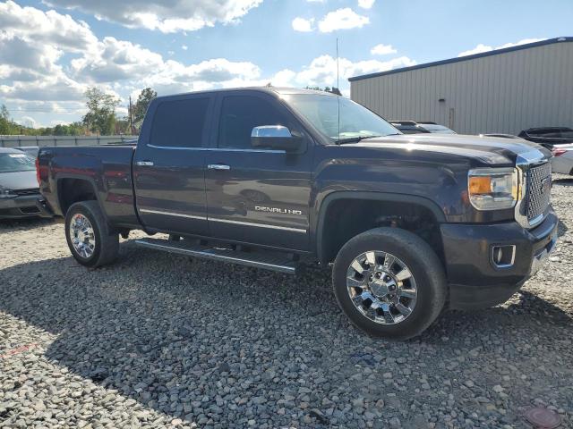
[[[119,234],[109,228],[97,201],[75,203],[65,214],[65,238],[81,265],[111,264],[119,252]]]

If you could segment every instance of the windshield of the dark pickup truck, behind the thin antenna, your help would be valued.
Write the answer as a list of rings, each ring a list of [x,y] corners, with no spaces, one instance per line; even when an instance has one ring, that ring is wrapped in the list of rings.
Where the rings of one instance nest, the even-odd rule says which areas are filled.
[[[345,97],[293,94],[284,99],[317,130],[335,141],[400,133],[377,114]]]

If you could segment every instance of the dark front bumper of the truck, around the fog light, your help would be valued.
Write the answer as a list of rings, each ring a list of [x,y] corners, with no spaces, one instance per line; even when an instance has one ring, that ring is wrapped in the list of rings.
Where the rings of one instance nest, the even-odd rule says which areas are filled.
[[[506,301],[534,275],[555,247],[559,220],[552,209],[526,230],[517,222],[440,225],[451,308],[492,307]],[[513,265],[498,267],[494,246],[515,246]]]

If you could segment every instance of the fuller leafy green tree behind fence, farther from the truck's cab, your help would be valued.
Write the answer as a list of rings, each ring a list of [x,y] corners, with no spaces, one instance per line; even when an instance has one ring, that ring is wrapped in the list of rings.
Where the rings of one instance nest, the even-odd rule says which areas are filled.
[[[106,94],[99,88],[90,87],[85,92],[88,113],[83,116],[82,122],[92,132],[100,135],[110,135],[115,132],[115,107],[119,100]]]

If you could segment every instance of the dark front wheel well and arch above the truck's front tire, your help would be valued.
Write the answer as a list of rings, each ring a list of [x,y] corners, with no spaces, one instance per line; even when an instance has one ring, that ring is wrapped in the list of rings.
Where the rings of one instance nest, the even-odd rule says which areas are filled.
[[[346,241],[380,226],[412,231],[444,263],[440,206],[423,197],[380,192],[334,192],[324,198],[316,223],[316,252],[322,264],[332,262]]]

